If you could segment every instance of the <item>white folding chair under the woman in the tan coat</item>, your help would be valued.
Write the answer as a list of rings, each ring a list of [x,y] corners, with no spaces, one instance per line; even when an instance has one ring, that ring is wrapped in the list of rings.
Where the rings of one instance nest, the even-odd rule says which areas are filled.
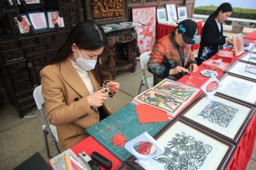
[[[60,148],[58,146],[57,129],[54,125],[48,124],[47,118],[45,117],[45,113],[44,113],[44,110],[42,107],[44,105],[44,97],[42,96],[42,85],[39,85],[38,87],[35,88],[35,90],[33,91],[33,97],[36,102],[36,107],[40,111],[41,116],[44,120],[44,125],[42,125],[42,131],[43,131],[43,135],[44,135],[45,148],[46,148],[46,152],[47,152],[47,157],[51,158],[49,144],[48,144],[48,140],[47,140],[47,134],[49,134],[51,136],[51,139],[52,139],[54,145],[56,146],[56,149],[58,150],[58,152],[59,153],[61,153],[61,152],[60,152]]]

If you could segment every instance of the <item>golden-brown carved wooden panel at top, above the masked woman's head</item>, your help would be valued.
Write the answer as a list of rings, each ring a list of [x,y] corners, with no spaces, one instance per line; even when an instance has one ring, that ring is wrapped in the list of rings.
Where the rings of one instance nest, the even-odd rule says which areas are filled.
[[[86,20],[113,22],[127,20],[126,0],[86,0]]]

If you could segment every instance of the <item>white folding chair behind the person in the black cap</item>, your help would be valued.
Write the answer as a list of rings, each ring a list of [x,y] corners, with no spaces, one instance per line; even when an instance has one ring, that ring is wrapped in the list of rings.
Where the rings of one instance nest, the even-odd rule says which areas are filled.
[[[145,53],[142,53],[140,55],[140,66],[141,66],[141,71],[143,73],[143,76],[142,76],[141,81],[140,81],[140,88],[139,88],[138,94],[140,94],[141,88],[142,88],[143,85],[146,86],[146,89],[149,89],[150,87],[153,87],[154,78],[153,78],[153,76],[147,78],[146,73],[145,73],[145,69],[144,69],[144,66],[147,65],[148,60],[150,58],[150,53],[151,52],[145,52]]]

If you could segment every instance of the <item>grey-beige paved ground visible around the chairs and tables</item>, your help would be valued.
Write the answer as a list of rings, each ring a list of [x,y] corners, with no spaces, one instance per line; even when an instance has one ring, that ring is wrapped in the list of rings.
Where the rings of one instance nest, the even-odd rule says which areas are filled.
[[[225,35],[233,35],[232,32],[228,32],[230,28],[225,27],[224,30]],[[252,29],[244,29],[244,34],[251,31]],[[150,73],[147,74],[150,76]],[[141,76],[139,63],[134,73],[125,72],[118,75],[116,81],[120,82],[120,91],[106,103],[114,111],[130,103],[138,94]],[[0,108],[0,170],[13,169],[36,152],[48,161],[42,136],[42,118],[36,108],[29,111],[26,116],[33,115],[38,117],[20,119],[17,110],[11,104],[6,103],[3,108]],[[51,142],[50,147],[52,155],[56,154],[56,149]],[[256,169],[256,145],[247,169]]]

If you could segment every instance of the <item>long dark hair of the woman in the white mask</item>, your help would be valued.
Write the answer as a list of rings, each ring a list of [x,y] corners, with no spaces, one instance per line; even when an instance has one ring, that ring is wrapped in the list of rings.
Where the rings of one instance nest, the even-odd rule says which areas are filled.
[[[93,21],[80,22],[71,30],[67,41],[58,49],[55,57],[52,58],[49,64],[55,64],[67,59],[67,57],[72,54],[71,46],[74,43],[79,49],[83,50],[98,50],[102,46],[107,48],[108,45],[102,27],[95,24]],[[101,66],[100,56],[97,58],[97,64],[92,70],[92,73],[101,84],[110,77]]]

